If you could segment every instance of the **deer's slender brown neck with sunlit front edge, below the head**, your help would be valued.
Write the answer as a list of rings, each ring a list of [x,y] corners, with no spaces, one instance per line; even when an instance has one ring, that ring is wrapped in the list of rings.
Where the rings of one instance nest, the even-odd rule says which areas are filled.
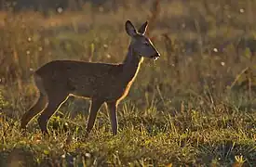
[[[128,47],[128,55],[123,62],[123,79],[125,83],[133,81],[140,70],[143,58],[138,55],[131,46]]]

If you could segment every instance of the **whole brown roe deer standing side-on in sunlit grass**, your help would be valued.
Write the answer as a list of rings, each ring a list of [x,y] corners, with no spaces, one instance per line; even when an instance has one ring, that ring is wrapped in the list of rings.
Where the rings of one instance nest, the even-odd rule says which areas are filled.
[[[35,115],[41,112],[38,123],[43,134],[47,132],[49,118],[61,107],[68,96],[91,99],[87,125],[90,133],[98,110],[106,102],[113,135],[117,133],[117,105],[128,95],[140,69],[142,57],[157,59],[160,54],[145,36],[148,22],[137,31],[128,20],[126,32],[131,37],[127,58],[122,64],[90,63],[74,60],[54,60],[34,72],[34,83],[39,97],[34,106],[21,118],[21,129],[25,129]]]

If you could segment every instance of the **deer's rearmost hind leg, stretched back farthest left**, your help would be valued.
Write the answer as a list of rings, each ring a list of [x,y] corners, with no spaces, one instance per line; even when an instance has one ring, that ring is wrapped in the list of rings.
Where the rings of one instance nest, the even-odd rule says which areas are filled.
[[[34,82],[39,90],[39,96],[34,106],[31,107],[27,112],[25,112],[20,121],[20,128],[25,129],[26,125],[41,111],[43,111],[48,103],[47,94],[45,92],[42,80],[39,76],[34,76]]]

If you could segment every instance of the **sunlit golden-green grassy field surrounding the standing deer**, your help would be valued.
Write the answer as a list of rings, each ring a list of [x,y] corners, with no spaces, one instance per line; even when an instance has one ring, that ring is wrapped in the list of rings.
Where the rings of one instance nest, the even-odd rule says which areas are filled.
[[[256,1],[159,6],[0,13],[0,166],[256,166]],[[121,62],[127,19],[151,20],[161,58],[144,60],[118,107],[118,135],[102,106],[85,138],[89,101],[77,98],[52,117],[50,136],[36,119],[22,135],[33,71],[54,59]]]

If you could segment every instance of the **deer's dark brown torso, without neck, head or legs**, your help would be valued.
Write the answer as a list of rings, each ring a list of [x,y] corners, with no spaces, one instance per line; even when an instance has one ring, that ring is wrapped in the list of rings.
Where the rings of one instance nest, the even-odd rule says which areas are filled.
[[[35,73],[43,79],[49,91],[65,89],[76,96],[96,96],[107,100],[127,94],[128,83],[120,80],[122,71],[122,64],[55,60]]]

